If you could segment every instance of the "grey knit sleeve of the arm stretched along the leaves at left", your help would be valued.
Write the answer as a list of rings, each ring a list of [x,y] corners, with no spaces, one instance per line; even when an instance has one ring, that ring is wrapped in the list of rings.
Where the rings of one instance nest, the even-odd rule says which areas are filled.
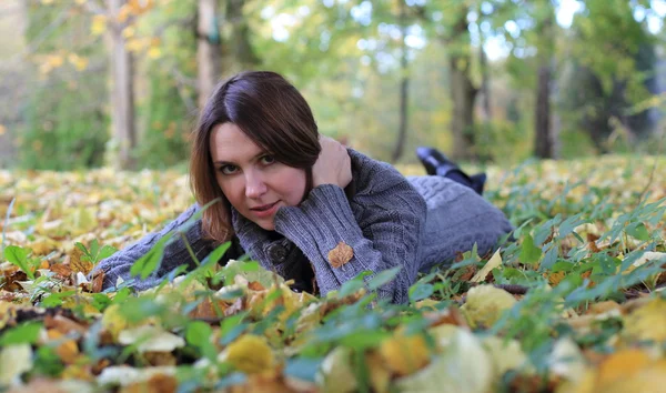
[[[138,291],[142,291],[158,285],[165,274],[181,264],[186,264],[188,266],[193,268],[194,261],[188,251],[185,242],[183,241],[182,236],[178,236],[176,234],[176,238],[173,238],[171,241],[169,241],[164,248],[160,266],[155,272],[153,272],[153,274],[148,276],[145,280],[141,280],[139,276],[132,278],[130,275],[130,269],[132,269],[132,265],[134,262],[137,262],[137,260],[145,255],[160,241],[160,239],[170,235],[171,232],[176,230],[184,231],[185,239],[198,260],[201,261],[203,258],[205,258],[211,252],[211,245],[209,241],[202,239],[201,220],[198,220],[196,222],[189,222],[189,220],[192,219],[194,213],[198,211],[199,206],[196,204],[190,206],[161,231],[147,234],[138,242],[100,261],[100,263],[94,268],[92,274],[99,270],[104,272],[104,282],[102,289],[115,286],[118,279],[122,278],[124,281],[133,279],[134,283],[132,286]]]

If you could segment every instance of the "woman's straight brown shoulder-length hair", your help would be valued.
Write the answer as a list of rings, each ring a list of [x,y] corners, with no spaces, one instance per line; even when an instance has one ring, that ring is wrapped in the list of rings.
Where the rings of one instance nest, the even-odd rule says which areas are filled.
[[[190,157],[190,187],[196,202],[203,206],[218,198],[222,201],[208,208],[202,218],[204,235],[215,242],[233,235],[231,205],[218,185],[210,150],[211,132],[226,122],[238,125],[278,162],[305,170],[305,193],[312,189],[312,165],[321,150],[310,105],[282,75],[248,71],[218,84],[201,111]]]

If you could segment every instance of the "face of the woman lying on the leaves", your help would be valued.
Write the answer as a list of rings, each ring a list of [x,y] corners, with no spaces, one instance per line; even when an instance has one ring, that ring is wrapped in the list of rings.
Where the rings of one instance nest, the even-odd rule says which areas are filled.
[[[273,219],[280,206],[303,200],[305,171],[276,162],[233,123],[213,128],[211,157],[224,196],[264,230],[275,229]]]

